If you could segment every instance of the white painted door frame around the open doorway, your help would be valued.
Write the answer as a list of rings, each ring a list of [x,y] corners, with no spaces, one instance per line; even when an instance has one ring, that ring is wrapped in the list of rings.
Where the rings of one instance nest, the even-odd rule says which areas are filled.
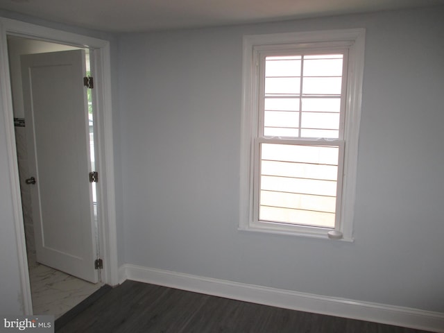
[[[24,237],[24,221],[22,215],[22,198],[20,196],[17,152],[15,148],[14,115],[12,110],[12,91],[8,62],[7,35],[45,40],[58,44],[89,47],[93,49],[92,75],[94,76],[94,137],[96,137],[96,158],[99,171],[97,194],[101,205],[99,207],[99,244],[103,270],[101,280],[112,286],[119,283],[117,266],[117,230],[114,189],[114,151],[112,143],[112,108],[111,108],[111,67],[110,42],[94,37],[68,33],[53,28],[28,24],[13,19],[0,17],[0,109],[5,117],[5,129],[8,145],[8,164],[11,180],[12,210],[14,212],[15,230],[17,235],[18,264],[24,314],[33,314],[31,287],[29,285],[28,259]]]

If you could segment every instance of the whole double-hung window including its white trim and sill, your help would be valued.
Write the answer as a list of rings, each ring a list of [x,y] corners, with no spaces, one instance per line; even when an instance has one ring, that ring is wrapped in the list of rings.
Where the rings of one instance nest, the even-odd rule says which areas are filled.
[[[239,228],[352,239],[364,30],[244,37]]]

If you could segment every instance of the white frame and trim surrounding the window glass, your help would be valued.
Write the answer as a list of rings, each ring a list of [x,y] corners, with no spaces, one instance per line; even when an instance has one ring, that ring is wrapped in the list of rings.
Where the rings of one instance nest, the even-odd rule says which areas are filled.
[[[353,240],[352,221],[355,207],[364,44],[365,29],[363,28],[244,36],[239,230],[341,239],[343,241]],[[260,52],[264,52],[264,50],[284,52],[295,49],[309,51],[320,49],[333,52],[337,49],[345,49],[348,51],[348,57],[346,57],[348,59],[345,60],[347,61],[345,64],[347,66],[347,80],[345,119],[343,119],[343,144],[345,147],[343,150],[343,172],[338,177],[338,186],[341,186],[341,182],[342,191],[337,198],[340,207],[336,210],[336,214],[339,214],[339,219],[336,219],[334,228],[258,221],[257,214],[255,214],[255,210],[258,209],[258,203],[255,202],[258,183],[257,180],[255,181],[254,175],[259,162],[257,141],[261,140],[258,133],[259,104],[261,103],[259,56]]]

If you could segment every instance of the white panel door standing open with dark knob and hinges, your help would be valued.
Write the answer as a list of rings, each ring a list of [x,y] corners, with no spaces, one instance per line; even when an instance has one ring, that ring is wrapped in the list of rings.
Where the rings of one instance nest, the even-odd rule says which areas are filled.
[[[21,61],[37,262],[97,282],[85,51]]]

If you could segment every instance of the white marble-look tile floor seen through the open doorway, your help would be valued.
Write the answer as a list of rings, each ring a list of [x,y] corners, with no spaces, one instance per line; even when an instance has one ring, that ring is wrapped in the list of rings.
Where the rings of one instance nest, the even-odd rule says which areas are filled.
[[[33,313],[59,318],[103,285],[35,264],[29,267]]]

